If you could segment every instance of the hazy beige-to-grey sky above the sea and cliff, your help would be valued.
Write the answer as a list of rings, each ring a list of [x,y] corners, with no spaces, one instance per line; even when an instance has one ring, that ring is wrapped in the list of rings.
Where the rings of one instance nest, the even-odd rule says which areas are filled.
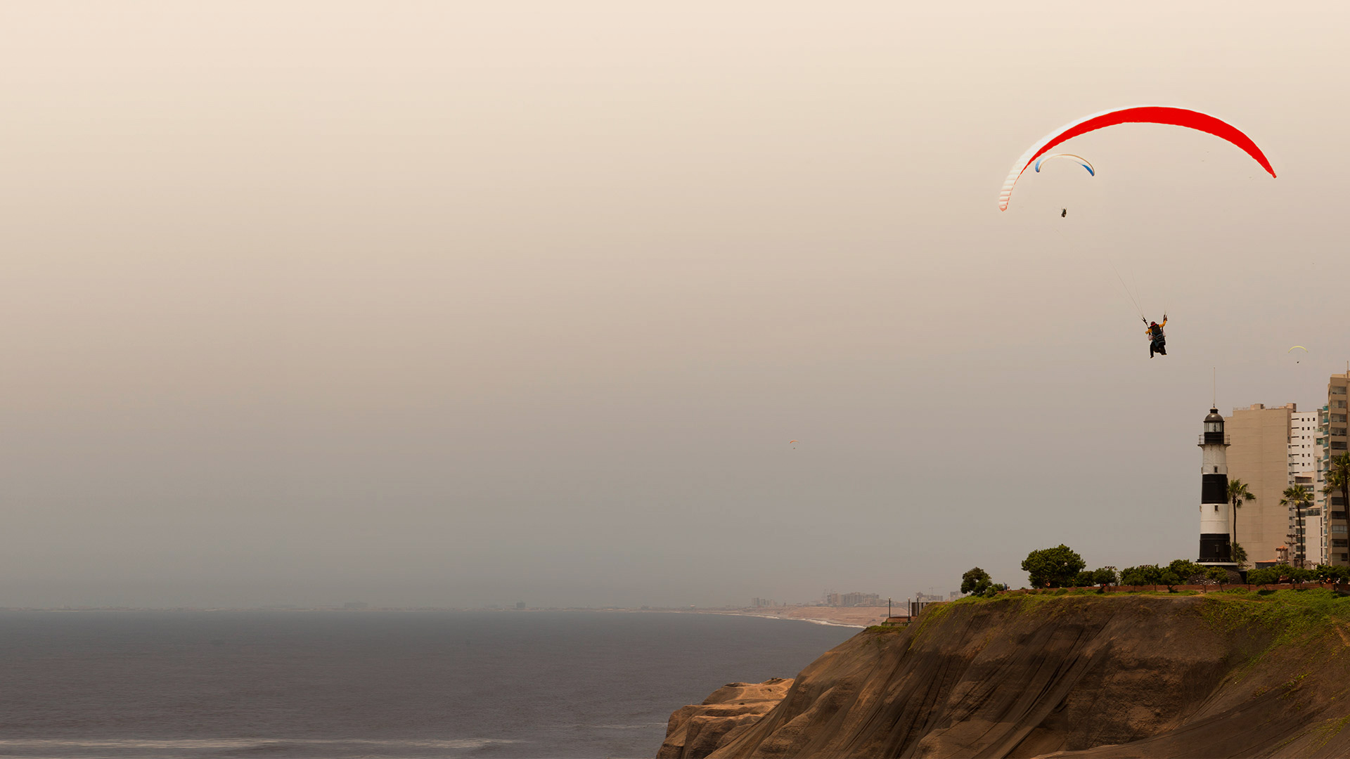
[[[0,605],[903,598],[1061,542],[1193,558],[1211,367],[1227,415],[1322,405],[1350,358],[1347,24],[7,3]],[[1035,139],[1137,104],[1280,177],[1122,126],[998,211]]]

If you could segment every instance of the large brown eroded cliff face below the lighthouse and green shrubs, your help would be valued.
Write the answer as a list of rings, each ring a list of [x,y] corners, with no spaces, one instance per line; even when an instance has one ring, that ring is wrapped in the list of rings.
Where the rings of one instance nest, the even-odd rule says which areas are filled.
[[[933,606],[828,651],[763,716],[703,712],[662,756],[1350,755],[1338,616],[1219,596]]]

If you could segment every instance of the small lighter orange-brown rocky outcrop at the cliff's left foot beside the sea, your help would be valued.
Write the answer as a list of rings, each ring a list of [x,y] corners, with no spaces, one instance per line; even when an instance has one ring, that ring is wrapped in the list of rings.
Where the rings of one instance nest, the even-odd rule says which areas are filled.
[[[702,759],[733,740],[787,696],[792,681],[772,678],[760,683],[730,682],[702,704],[676,709],[666,727],[666,743],[657,759]]]

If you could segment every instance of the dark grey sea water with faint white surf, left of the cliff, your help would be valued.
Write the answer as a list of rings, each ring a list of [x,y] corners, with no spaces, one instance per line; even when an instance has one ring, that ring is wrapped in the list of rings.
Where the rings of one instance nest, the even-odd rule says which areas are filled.
[[[0,756],[655,756],[857,631],[606,612],[0,612]]]

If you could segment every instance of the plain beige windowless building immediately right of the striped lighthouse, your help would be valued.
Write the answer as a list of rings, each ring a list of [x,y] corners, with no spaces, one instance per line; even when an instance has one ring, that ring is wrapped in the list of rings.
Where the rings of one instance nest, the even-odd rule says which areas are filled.
[[[1280,505],[1291,483],[1289,458],[1295,404],[1266,408],[1251,404],[1235,408],[1224,424],[1228,446],[1228,479],[1241,479],[1256,496],[1238,509],[1237,542],[1247,563],[1273,560],[1276,548],[1289,539],[1289,509]],[[1312,461],[1312,459],[1308,459]]]

